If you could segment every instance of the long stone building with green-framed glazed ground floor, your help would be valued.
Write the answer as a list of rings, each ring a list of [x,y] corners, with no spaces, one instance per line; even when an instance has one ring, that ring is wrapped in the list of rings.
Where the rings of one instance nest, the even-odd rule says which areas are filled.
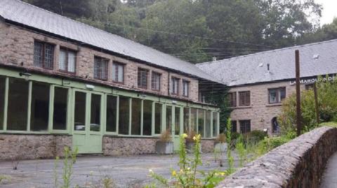
[[[176,57],[18,0],[0,1],[0,159],[154,153],[159,134],[211,151],[213,76]]]

